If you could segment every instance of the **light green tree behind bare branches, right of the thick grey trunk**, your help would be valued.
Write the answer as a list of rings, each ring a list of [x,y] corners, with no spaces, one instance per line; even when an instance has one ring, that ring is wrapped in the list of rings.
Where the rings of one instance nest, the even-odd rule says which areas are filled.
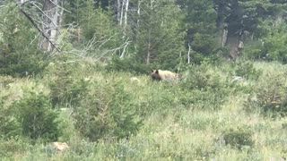
[[[93,0],[80,2],[78,9],[79,27],[75,34],[78,39],[75,44],[85,47],[84,56],[97,59],[110,58],[122,51],[124,41],[127,41],[120,32],[112,11],[95,7]],[[128,47],[125,48],[128,51]]]

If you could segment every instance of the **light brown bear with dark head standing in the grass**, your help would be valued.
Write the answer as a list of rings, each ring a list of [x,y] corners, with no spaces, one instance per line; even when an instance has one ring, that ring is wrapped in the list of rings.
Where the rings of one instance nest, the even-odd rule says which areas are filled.
[[[152,70],[151,73],[152,80],[177,80],[178,74],[170,71]]]

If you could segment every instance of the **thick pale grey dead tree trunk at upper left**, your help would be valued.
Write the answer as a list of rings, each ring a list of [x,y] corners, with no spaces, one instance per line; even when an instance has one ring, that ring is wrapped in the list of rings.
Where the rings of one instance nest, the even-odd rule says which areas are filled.
[[[54,50],[59,34],[58,23],[60,14],[57,13],[57,4],[57,0],[45,0],[43,5],[43,32],[48,39],[42,38],[39,47],[48,52]]]

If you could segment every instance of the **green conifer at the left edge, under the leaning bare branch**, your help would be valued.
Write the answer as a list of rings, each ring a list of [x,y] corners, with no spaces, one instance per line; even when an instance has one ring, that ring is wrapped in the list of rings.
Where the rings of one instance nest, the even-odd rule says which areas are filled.
[[[37,49],[35,30],[14,4],[0,9],[0,73],[13,76],[37,74],[47,65]]]

